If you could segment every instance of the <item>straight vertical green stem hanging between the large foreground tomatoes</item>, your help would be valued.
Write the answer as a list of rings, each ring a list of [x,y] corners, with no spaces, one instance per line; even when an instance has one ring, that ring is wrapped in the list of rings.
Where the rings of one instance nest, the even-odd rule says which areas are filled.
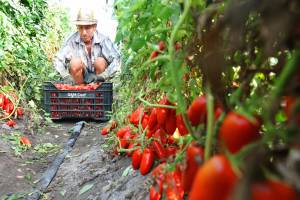
[[[207,98],[207,135],[205,140],[205,162],[209,160],[212,149],[212,141],[214,136],[214,97],[211,93],[209,84],[206,88],[206,98]]]

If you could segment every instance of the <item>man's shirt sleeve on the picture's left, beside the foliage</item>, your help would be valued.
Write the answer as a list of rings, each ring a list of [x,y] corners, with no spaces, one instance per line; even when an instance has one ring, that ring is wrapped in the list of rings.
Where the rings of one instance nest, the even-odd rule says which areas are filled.
[[[55,55],[53,65],[62,78],[69,75],[69,64],[71,58],[72,58],[72,50],[70,45],[68,44],[65,44]]]

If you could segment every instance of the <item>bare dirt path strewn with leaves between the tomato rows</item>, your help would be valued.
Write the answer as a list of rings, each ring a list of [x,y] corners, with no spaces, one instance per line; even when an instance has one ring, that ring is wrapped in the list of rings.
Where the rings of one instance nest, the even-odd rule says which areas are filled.
[[[0,200],[26,199],[37,186],[39,178],[51,165],[63,145],[68,141],[75,122],[56,122],[42,133],[26,134],[22,122],[9,129],[0,124]],[[76,144],[61,164],[56,176],[41,199],[148,199],[148,177],[134,171],[131,160],[114,156],[104,150],[104,138],[99,134],[104,123],[88,122],[82,129]],[[18,132],[32,141],[30,149],[16,156],[13,138]],[[55,148],[40,153],[38,144],[52,144]]]

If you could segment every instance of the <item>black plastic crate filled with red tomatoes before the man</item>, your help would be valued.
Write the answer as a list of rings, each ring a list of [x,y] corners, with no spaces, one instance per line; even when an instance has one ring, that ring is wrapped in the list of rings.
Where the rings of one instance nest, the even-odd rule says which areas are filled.
[[[94,119],[107,121],[112,110],[113,84],[101,83],[91,90],[62,90],[55,85],[60,82],[45,82],[44,106],[51,119]]]

